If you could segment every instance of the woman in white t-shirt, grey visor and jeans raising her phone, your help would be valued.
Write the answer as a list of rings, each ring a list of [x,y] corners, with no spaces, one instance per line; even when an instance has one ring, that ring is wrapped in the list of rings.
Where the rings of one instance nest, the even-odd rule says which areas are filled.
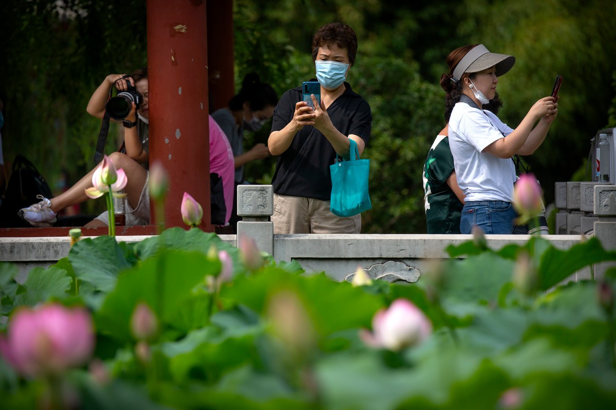
[[[532,154],[556,119],[558,98],[552,97],[533,104],[515,129],[483,109],[495,97],[498,77],[515,61],[511,55],[490,53],[482,44],[465,45],[447,57],[450,71],[441,77],[441,86],[447,92],[447,106],[453,106],[449,144],[465,195],[462,234],[470,234],[474,226],[485,234],[513,233],[517,213],[512,205],[516,181],[512,157]]]

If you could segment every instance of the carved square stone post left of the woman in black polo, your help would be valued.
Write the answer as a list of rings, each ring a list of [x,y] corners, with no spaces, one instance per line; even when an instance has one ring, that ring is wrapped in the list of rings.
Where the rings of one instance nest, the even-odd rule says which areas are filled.
[[[274,223],[269,217],[274,214],[274,188],[271,185],[238,185],[237,244],[241,235],[251,237],[260,251],[274,254]]]

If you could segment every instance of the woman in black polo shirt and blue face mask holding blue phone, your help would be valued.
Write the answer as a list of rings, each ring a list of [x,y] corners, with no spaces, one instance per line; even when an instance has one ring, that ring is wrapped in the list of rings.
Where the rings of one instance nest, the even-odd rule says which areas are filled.
[[[370,138],[370,105],[345,82],[355,63],[357,36],[342,23],[329,23],[312,38],[312,59],[321,103],[303,99],[302,87],[288,90],[274,110],[268,147],[278,156],[274,186],[274,233],[359,234],[361,214],[343,218],[330,211],[330,165],[336,154],[362,154]]]

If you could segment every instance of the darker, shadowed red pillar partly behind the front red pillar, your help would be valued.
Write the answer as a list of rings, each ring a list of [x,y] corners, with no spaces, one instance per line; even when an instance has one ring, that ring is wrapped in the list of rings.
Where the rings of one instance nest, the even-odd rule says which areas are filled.
[[[226,107],[235,95],[233,1],[208,1],[209,107]]]

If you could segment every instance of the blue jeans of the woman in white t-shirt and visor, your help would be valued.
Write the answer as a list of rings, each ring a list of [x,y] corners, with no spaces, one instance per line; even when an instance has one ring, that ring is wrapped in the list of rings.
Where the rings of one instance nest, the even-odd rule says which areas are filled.
[[[471,234],[479,226],[484,234],[509,235],[513,233],[517,212],[511,202],[479,201],[466,202],[460,218],[460,232]]]

